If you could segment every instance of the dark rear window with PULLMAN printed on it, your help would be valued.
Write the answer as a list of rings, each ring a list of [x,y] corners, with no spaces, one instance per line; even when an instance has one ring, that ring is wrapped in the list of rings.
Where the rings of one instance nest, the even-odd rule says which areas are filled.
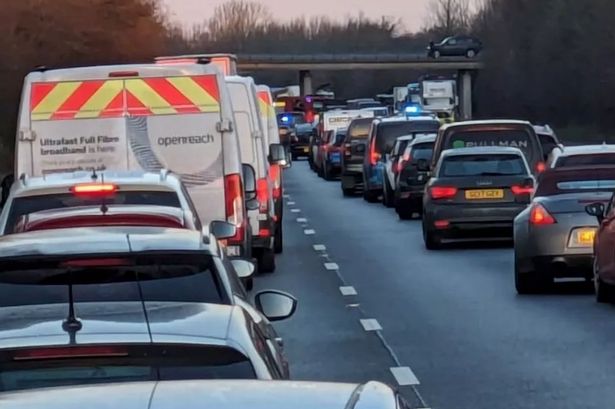
[[[442,150],[477,146],[510,146],[519,148],[530,162],[537,159],[531,135],[523,129],[453,131],[446,139]]]

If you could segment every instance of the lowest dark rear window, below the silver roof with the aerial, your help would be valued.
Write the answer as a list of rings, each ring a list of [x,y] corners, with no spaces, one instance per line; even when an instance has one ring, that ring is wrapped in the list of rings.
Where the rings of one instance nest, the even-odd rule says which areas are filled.
[[[97,346],[89,347],[89,353]],[[64,359],[14,360],[28,352],[44,355],[44,348],[3,352],[0,392],[112,382],[187,379],[256,379],[249,359],[223,346],[100,346],[101,351],[121,357],[101,356]],[[66,348],[70,351],[71,348]],[[78,351],[78,348],[74,349]],[[67,352],[67,355],[70,352]]]

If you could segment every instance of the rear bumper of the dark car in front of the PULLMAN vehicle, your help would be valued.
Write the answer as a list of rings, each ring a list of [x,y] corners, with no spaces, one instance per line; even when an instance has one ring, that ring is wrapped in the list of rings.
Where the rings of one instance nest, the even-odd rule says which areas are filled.
[[[515,217],[526,208],[525,204],[505,206],[432,205],[424,212],[427,227],[443,239],[513,238]],[[436,228],[436,221],[448,225]]]

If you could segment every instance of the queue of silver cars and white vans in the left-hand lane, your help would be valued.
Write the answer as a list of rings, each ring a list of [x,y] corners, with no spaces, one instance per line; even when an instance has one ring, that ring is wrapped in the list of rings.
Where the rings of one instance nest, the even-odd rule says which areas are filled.
[[[298,302],[250,294],[284,248],[280,135],[232,55],[28,74],[2,183],[0,401],[406,407],[378,382],[282,382],[272,322]]]

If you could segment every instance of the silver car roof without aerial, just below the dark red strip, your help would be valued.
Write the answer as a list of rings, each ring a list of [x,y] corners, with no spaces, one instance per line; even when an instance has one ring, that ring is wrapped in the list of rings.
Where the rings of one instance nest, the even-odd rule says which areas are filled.
[[[0,260],[86,254],[154,251],[210,251],[202,232],[161,227],[80,227],[41,230],[0,237]]]

